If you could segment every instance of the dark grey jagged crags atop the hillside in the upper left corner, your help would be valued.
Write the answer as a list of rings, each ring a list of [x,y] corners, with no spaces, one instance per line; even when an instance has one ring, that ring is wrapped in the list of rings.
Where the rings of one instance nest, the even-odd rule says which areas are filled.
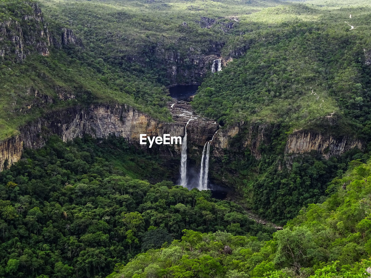
[[[24,3],[30,11],[22,17],[0,22],[0,57],[4,60],[20,62],[27,55],[38,53],[49,56],[50,47],[61,49],[62,46],[75,44],[83,47],[69,29],[61,29],[58,33],[50,33],[42,12],[37,3]]]

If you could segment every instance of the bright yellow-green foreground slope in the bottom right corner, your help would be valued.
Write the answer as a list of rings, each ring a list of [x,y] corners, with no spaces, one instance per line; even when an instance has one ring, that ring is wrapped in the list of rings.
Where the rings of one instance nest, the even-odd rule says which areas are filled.
[[[271,240],[185,230],[181,241],[139,254],[108,277],[368,277],[371,160],[350,165],[331,182],[331,197],[303,208]]]

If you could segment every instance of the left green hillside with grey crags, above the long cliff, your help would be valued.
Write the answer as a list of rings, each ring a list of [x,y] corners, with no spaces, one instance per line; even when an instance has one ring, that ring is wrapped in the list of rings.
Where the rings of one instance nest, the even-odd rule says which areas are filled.
[[[36,2],[2,1],[1,8],[0,139],[46,111],[94,102],[125,103],[171,120],[164,86],[86,52],[72,30],[49,26]]]

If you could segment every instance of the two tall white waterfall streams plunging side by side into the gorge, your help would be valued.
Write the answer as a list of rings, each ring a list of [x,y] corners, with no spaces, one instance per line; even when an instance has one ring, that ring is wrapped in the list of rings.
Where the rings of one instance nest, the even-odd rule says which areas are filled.
[[[187,125],[188,123],[193,120],[191,118],[188,120],[187,124],[185,125],[184,130],[184,137],[182,140],[182,150],[181,150],[181,162],[180,162],[180,185],[183,187],[187,187],[188,179],[187,179]],[[202,159],[201,159],[201,169],[200,169],[200,178],[198,181],[198,190],[207,190],[207,179],[209,175],[209,160],[210,160],[210,144],[214,139],[215,134],[210,141],[207,141],[204,145],[204,149],[202,151]],[[206,156],[205,156],[206,155]]]

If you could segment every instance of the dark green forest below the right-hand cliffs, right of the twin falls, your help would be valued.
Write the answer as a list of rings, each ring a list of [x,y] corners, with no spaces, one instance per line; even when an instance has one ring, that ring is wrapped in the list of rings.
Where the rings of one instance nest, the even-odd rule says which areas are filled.
[[[349,162],[366,162],[371,154],[353,149],[329,159],[314,151],[286,156],[283,153],[287,135],[278,127],[268,135],[269,145],[260,146],[262,156],[257,160],[243,146],[249,132],[249,128],[241,129],[223,159],[210,160],[211,167],[217,169],[210,175],[215,181],[227,179],[244,196],[240,200],[244,206],[280,225],[298,215],[303,206],[323,202],[328,197],[329,182],[342,175]],[[244,152],[236,156],[236,149]]]

